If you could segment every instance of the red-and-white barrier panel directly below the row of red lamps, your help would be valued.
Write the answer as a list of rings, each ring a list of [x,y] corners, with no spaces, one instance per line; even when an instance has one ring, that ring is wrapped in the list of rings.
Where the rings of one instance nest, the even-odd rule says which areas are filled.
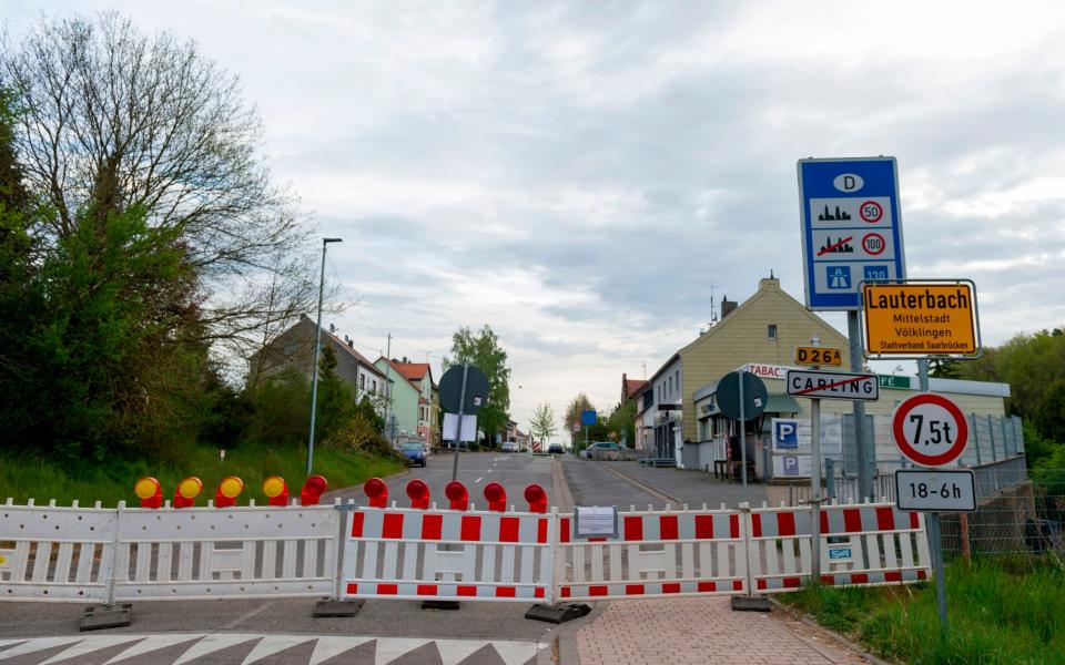
[[[552,600],[554,514],[351,508],[343,600]]]

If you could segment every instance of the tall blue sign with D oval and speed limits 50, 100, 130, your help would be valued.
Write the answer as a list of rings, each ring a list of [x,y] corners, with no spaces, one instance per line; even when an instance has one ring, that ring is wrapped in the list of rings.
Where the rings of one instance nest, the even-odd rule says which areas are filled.
[[[862,282],[906,276],[894,157],[799,161],[807,307],[861,308]]]

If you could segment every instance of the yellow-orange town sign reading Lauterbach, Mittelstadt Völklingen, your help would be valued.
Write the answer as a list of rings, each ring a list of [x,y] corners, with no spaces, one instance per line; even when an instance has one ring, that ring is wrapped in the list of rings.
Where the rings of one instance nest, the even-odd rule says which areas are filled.
[[[892,358],[980,356],[972,282],[862,285],[865,354]]]

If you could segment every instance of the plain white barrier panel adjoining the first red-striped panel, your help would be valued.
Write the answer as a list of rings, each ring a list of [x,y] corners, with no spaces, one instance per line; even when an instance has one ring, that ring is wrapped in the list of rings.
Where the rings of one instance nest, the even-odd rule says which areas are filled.
[[[113,601],[327,596],[335,505],[118,510]]]

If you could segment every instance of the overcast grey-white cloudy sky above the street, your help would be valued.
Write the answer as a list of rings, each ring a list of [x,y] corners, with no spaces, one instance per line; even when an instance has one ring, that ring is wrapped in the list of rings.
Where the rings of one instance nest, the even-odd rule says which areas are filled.
[[[523,428],[608,410],[711,289],[772,270],[802,300],[807,156],[897,157],[909,276],[973,279],[985,342],[1065,324],[1059,1],[0,0],[16,34],[109,8],[241,76],[276,180],[344,238],[341,332],[438,379],[488,324]]]

